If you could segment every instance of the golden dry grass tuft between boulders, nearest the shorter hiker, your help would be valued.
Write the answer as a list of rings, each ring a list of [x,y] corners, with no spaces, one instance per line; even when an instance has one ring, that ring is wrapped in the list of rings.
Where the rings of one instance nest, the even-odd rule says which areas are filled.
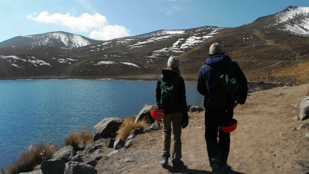
[[[137,121],[134,124],[136,115],[133,117],[125,118],[122,125],[119,127],[119,130],[117,131],[116,138],[120,138],[123,140],[126,140],[130,134],[130,132],[135,128],[143,128],[146,129],[147,123],[145,120]]]

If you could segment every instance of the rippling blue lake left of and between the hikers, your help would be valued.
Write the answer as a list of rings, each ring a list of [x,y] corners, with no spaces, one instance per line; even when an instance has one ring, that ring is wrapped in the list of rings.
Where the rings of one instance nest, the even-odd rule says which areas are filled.
[[[186,81],[187,104],[200,105],[197,82]],[[155,104],[156,81],[0,81],[0,168],[30,144],[63,146],[70,130],[92,130],[108,117],[129,117]]]

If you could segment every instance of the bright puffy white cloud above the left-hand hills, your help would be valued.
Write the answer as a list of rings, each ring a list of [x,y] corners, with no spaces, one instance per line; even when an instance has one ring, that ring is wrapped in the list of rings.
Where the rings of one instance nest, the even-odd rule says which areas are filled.
[[[129,36],[130,31],[124,26],[109,25],[105,16],[95,13],[90,15],[83,13],[78,17],[70,13],[49,14],[47,11],[27,15],[27,19],[42,23],[54,23],[70,28],[74,32],[91,32],[90,37],[98,40],[110,40],[117,37]]]

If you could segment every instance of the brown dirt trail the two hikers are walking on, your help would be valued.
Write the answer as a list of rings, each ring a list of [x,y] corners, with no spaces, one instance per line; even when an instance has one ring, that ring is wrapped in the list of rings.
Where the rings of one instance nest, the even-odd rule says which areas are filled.
[[[223,174],[242,173],[307,173],[295,159],[309,158],[307,129],[292,131],[303,122],[298,116],[298,104],[309,89],[309,84],[296,87],[278,87],[250,93],[247,102],[235,109],[239,122],[231,133],[231,151],[228,164],[232,170]],[[189,113],[189,125],[182,131],[182,160],[186,167],[172,172],[171,162],[166,168],[159,165],[162,130],[140,134],[133,145],[121,148],[98,163],[98,173],[211,173],[204,138],[204,112]],[[112,149],[104,148],[101,155]]]

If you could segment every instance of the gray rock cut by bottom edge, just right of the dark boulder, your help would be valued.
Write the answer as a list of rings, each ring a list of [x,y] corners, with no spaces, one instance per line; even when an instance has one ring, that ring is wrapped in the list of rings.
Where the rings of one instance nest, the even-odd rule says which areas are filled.
[[[70,161],[66,165],[66,170],[64,171],[64,174],[97,174],[97,170],[89,164],[85,163],[78,163],[75,161]]]

